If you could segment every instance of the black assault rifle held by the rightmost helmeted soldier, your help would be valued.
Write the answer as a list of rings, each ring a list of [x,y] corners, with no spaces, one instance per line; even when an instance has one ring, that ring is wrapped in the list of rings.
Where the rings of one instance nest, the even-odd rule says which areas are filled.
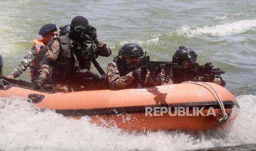
[[[174,83],[182,83],[190,80],[195,82],[213,82],[215,77],[219,77],[225,73],[220,68],[213,67],[211,62],[201,66],[198,63],[189,67],[176,66],[172,68],[171,77]]]

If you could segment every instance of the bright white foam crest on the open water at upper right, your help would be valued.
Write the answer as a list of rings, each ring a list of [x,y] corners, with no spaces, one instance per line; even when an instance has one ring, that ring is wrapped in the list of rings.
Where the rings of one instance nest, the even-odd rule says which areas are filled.
[[[178,34],[184,34],[189,37],[211,34],[213,36],[228,36],[231,34],[243,33],[256,27],[256,19],[240,20],[215,26],[182,26],[175,31]]]

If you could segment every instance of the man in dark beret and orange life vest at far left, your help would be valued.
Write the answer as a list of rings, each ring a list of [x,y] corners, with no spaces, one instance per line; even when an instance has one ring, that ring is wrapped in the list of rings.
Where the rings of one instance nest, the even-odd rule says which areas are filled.
[[[15,67],[6,78],[14,79],[19,77],[26,68],[30,67],[30,75],[31,78],[34,77],[34,66],[36,56],[41,49],[47,49],[45,46],[53,39],[58,36],[57,27],[55,24],[46,24],[43,25],[39,31],[39,34],[42,36],[42,39],[35,39],[34,46],[28,51],[23,61],[19,63],[17,67]]]

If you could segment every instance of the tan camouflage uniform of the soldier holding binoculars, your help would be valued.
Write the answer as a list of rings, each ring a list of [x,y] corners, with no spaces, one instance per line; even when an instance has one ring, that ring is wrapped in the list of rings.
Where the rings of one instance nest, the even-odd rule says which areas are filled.
[[[100,56],[110,56],[111,50],[107,48],[107,45],[104,41],[102,41],[99,37],[94,39],[94,43],[92,45],[92,49],[94,49],[95,54]],[[58,39],[56,39],[51,47],[48,49],[46,53],[46,58],[55,62],[58,59],[60,52],[60,43]],[[90,63],[90,61],[89,61]],[[42,64],[39,69],[39,78],[46,79],[47,75],[50,73],[50,66],[46,64]],[[59,77],[61,79],[62,77]],[[63,82],[58,81],[59,79],[53,79],[55,81],[56,91],[59,92],[73,92],[73,91],[81,91],[83,90],[84,86],[79,85],[77,82]]]

